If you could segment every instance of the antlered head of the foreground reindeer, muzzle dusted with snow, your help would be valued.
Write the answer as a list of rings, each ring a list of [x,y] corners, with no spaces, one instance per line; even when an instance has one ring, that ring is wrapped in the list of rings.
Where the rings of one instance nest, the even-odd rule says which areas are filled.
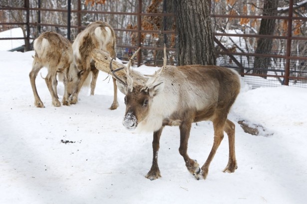
[[[136,53],[139,49],[136,51]],[[154,98],[163,91],[163,81],[159,80],[166,66],[166,52],[164,47],[164,65],[154,75],[144,75],[145,83],[139,85],[133,83],[133,76],[130,76],[130,66],[133,57],[131,57],[127,66],[127,80],[117,80],[116,84],[119,90],[125,95],[126,112],[123,119],[123,125],[130,130],[137,127],[138,123],[143,121],[149,114]],[[111,65],[111,63],[110,63]],[[116,70],[115,70],[116,71]],[[115,72],[113,71],[113,76]]]

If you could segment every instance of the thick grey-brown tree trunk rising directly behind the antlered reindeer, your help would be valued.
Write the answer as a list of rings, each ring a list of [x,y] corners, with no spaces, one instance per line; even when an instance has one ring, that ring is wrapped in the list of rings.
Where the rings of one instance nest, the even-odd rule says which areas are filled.
[[[215,65],[208,0],[174,0],[178,65]]]

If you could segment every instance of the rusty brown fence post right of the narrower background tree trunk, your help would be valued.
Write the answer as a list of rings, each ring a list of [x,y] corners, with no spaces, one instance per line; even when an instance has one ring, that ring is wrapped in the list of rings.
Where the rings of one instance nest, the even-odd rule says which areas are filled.
[[[284,85],[286,85],[286,86],[289,86],[289,80],[290,80],[292,17],[293,17],[293,0],[290,0],[289,1],[289,15],[288,15],[287,47],[286,47],[285,83],[284,83]]]

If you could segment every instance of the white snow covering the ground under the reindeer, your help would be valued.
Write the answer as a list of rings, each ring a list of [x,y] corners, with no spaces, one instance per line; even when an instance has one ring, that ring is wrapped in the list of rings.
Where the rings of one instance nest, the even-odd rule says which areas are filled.
[[[0,51],[1,204],[306,203],[306,89],[252,90],[242,84],[229,113],[236,123],[235,173],[222,172],[228,162],[225,135],[208,178],[197,181],[178,152],[178,127],[166,127],[159,151],[162,178],[150,181],[144,176],[152,162],[152,133],[124,128],[121,93],[120,106],[108,109],[113,83],[103,81],[107,75],[99,74],[94,96],[84,88],[77,104],[54,107],[38,74],[37,91],[45,108],[37,108],[28,77],[31,55],[33,51]],[[45,68],[41,72],[46,75]],[[60,82],[58,94],[61,100]],[[237,123],[242,119],[273,135],[245,133]],[[202,165],[212,144],[212,123],[193,124],[190,157]]]

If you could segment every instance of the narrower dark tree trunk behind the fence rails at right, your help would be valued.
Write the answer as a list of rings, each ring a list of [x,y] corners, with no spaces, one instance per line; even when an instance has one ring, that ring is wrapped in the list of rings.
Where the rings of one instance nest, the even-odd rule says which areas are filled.
[[[263,9],[263,15],[277,15],[278,0],[266,0]],[[275,30],[275,19],[261,19],[259,34],[273,35]],[[273,39],[259,38],[255,53],[270,54],[273,47]],[[271,58],[255,57],[254,72],[256,74],[267,75],[268,68],[271,65]],[[267,77],[264,76],[266,79]]]

